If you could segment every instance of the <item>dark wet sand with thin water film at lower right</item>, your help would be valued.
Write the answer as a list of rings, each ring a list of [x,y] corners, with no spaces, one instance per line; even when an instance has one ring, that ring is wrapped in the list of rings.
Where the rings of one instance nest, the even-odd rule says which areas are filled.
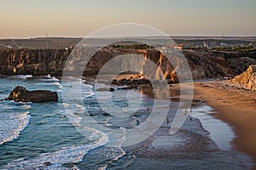
[[[199,119],[192,117],[192,113],[177,133],[170,134],[176,111],[177,103],[174,102],[167,116],[171,122],[164,122],[145,144],[138,144],[142,147],[130,148],[136,159],[126,169],[247,169],[236,150],[218,148],[209,137],[210,133],[202,127]],[[195,109],[193,113],[197,111]]]

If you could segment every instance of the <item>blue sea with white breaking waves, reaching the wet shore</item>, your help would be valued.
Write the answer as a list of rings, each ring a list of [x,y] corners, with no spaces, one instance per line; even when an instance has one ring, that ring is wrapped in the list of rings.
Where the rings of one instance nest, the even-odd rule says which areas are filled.
[[[154,105],[154,99],[139,90],[117,90],[120,87],[113,86],[113,104],[120,112],[128,105],[130,109],[138,105],[136,111],[129,110],[132,114],[116,116],[99,105],[98,99],[104,95],[96,96],[95,83],[80,77],[61,81],[61,77],[50,75],[0,75],[0,99],[8,98],[18,85],[28,90],[55,91],[59,99],[45,103],[0,102],[0,169],[250,169],[253,166],[252,159],[232,145],[232,139],[236,138],[233,128],[216,119],[214,114],[218,113],[208,105],[191,108],[183,126],[170,134],[173,113],[177,111],[177,102],[171,101],[161,108],[168,111],[170,122],[165,119],[148,139],[123,146],[128,129],[145,122]],[[65,90],[70,98],[62,96]],[[98,92],[101,93],[107,92]],[[132,103],[137,96],[141,99]]]

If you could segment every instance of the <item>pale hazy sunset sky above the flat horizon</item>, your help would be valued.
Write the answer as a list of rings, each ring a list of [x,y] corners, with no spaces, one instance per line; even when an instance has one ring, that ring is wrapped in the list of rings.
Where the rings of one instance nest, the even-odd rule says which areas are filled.
[[[0,37],[85,37],[119,23],[171,36],[256,36],[255,0],[0,0]]]

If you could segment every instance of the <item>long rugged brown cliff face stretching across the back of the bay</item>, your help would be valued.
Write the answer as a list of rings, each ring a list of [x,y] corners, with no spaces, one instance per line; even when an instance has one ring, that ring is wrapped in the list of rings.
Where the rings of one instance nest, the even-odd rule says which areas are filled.
[[[0,74],[32,74],[32,75],[53,75],[61,76],[66,60],[71,53],[71,49],[2,49],[0,50]],[[174,59],[177,65],[172,65],[166,57],[159,51],[151,49],[117,49],[103,48],[99,50],[84,67],[83,62],[79,59],[83,58],[83,53],[79,50],[73,51],[77,57],[77,63],[84,69],[84,76],[96,75],[113,57],[121,54],[140,54],[143,60],[127,59],[124,61],[115,61],[115,65],[136,66],[138,65],[140,73],[143,77],[144,73],[149,73],[149,78],[164,79],[167,78],[171,82],[178,82],[176,71],[178,69],[178,61]],[[237,75],[244,71],[248,65],[256,64],[255,59],[250,58],[230,58],[225,59],[221,55],[198,52],[183,51],[184,56],[188,60],[190,70],[194,79],[203,79],[211,77],[225,77],[228,75]],[[129,57],[129,56],[127,56]],[[150,68],[147,59],[153,61],[157,67]],[[242,62],[242,61],[247,62]],[[143,66],[140,62],[143,62]],[[140,66],[139,66],[140,65]],[[107,69],[108,70],[108,69]],[[110,71],[106,74],[112,74]],[[160,74],[162,72],[162,74]]]

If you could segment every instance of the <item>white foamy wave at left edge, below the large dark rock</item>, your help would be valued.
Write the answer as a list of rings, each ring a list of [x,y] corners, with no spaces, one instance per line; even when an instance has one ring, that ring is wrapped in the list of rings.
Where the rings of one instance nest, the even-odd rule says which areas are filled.
[[[8,113],[0,119],[0,144],[18,139],[20,132],[28,125],[29,111],[22,113]]]

